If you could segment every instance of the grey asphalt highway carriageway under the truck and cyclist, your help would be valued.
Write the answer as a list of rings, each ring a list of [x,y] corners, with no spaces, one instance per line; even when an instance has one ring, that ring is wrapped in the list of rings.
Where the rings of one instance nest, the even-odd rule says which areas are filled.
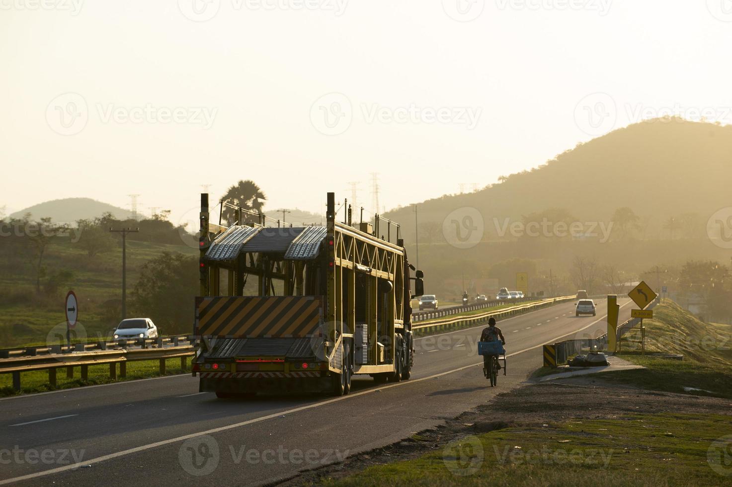
[[[302,469],[389,445],[509,390],[542,364],[544,343],[600,335],[574,302],[499,321],[507,376],[482,375],[482,327],[419,338],[411,379],[350,395],[220,400],[198,378],[168,376],[0,399],[0,485],[230,486],[276,483]],[[619,300],[620,321],[630,300]]]

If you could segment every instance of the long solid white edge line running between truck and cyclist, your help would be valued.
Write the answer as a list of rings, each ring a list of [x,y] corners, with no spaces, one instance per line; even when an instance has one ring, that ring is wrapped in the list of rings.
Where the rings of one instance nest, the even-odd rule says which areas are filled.
[[[624,305],[620,305],[620,307],[623,308],[625,305],[630,304],[630,302],[632,302],[632,301],[629,300]],[[559,338],[564,338],[569,335],[576,335],[577,333],[581,332],[582,330],[586,330],[587,328],[591,327],[593,324],[598,323],[607,317],[608,317],[608,315],[602,316],[602,318],[600,318],[596,321],[592,321],[586,327],[580,328],[580,330],[577,330],[573,333],[567,333],[567,335],[561,335],[560,337],[557,337],[557,338],[553,338],[553,341],[558,341]],[[543,345],[531,346],[528,349],[519,350],[518,352],[513,352],[512,354],[506,354],[506,357],[513,357],[518,354],[523,354],[523,352],[529,352],[530,350],[541,349],[542,346]],[[483,361],[481,360],[479,363],[463,365],[463,367],[452,369],[452,371],[436,373],[433,376],[422,377],[422,379],[411,379],[411,380],[408,380],[407,382],[395,382],[394,384],[384,385],[384,386],[380,386],[378,388],[374,387],[373,389],[362,390],[361,392],[355,393],[355,394],[341,395],[339,398],[332,398],[332,399],[329,399],[328,401],[323,401],[321,403],[307,404],[306,406],[299,406],[294,409],[289,409],[288,411],[275,412],[273,414],[268,414],[267,416],[255,417],[254,419],[242,421],[241,423],[234,423],[233,425],[220,426],[219,428],[212,428],[212,429],[209,429],[206,431],[199,431],[198,433],[191,433],[191,434],[187,434],[184,436],[178,436],[176,438],[171,438],[171,439],[163,439],[160,442],[154,442],[154,443],[150,443],[149,445],[142,445],[139,447],[130,448],[128,450],[122,450],[119,452],[110,453],[109,455],[98,456],[97,458],[87,459],[87,460],[85,460],[83,462],[79,462],[77,464],[58,466],[55,469],[44,470],[43,472],[36,472],[36,473],[28,474],[28,475],[21,475],[20,477],[7,478],[4,480],[0,480],[0,486],[7,485],[9,483],[20,482],[23,480],[29,480],[31,478],[45,477],[46,475],[51,475],[51,474],[55,474],[55,473],[59,473],[59,472],[66,472],[67,470],[77,469],[81,465],[98,464],[102,461],[111,460],[112,458],[119,458],[121,456],[131,455],[132,453],[138,453],[141,451],[150,450],[151,448],[157,448],[157,447],[162,447],[165,445],[170,445],[171,443],[182,442],[189,438],[195,438],[195,436],[201,436],[203,434],[220,433],[221,431],[228,431],[230,429],[239,428],[241,426],[246,426],[246,425],[250,425],[253,423],[260,423],[261,421],[265,421],[265,420],[271,420],[275,417],[280,417],[280,416],[287,415],[287,414],[294,414],[294,413],[300,412],[300,411],[307,411],[308,409],[315,409],[316,407],[326,406],[328,404],[332,404],[332,403],[335,403],[338,401],[346,401],[346,399],[357,398],[360,395],[373,394],[373,393],[376,393],[379,391],[384,391],[386,389],[391,389],[392,387],[406,386],[409,384],[417,384],[419,382],[427,381],[430,379],[437,379],[438,377],[441,377],[441,376],[447,376],[447,374],[449,374],[449,373],[464,371],[467,368],[477,367],[478,365],[482,367]]]

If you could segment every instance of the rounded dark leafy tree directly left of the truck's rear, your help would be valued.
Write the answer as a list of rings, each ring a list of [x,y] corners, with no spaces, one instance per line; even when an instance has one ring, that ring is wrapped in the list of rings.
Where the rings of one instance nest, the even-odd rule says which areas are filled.
[[[198,277],[198,257],[165,252],[143,265],[132,290],[132,309],[168,334],[190,332]]]

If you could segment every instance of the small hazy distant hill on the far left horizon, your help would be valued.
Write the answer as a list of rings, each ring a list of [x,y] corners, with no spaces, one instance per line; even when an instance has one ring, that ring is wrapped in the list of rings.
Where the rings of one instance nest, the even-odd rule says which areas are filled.
[[[30,213],[34,218],[51,217],[51,220],[55,222],[72,223],[81,219],[92,220],[107,212],[111,213],[116,220],[130,218],[130,211],[127,209],[91,198],[63,198],[45,201],[12,213],[10,218],[23,218],[23,215]]]

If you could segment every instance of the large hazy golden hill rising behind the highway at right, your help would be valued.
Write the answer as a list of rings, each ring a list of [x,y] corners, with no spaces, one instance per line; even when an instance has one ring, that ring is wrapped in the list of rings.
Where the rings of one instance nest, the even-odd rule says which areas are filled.
[[[477,209],[487,227],[493,218],[521,220],[549,209],[565,209],[581,221],[607,222],[617,208],[630,207],[650,234],[658,236],[668,218],[694,214],[701,222],[696,231],[703,233],[709,216],[729,206],[731,155],[732,126],[681,119],[632,124],[500,184],[424,201],[420,226],[441,225],[461,207]],[[411,207],[385,216],[405,222],[406,237],[414,237],[414,226],[407,223],[414,220]]]

